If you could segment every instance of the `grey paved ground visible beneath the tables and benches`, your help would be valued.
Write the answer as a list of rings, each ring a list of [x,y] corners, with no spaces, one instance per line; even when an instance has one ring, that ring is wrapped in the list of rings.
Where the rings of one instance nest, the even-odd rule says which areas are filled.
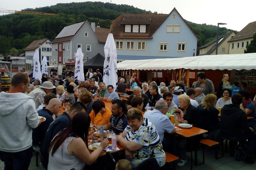
[[[220,154],[220,149],[219,149]],[[193,154],[194,158],[194,154]],[[176,170],[190,170],[190,153],[187,152],[187,164],[183,167],[176,166]],[[202,151],[198,153],[198,161],[202,160]],[[254,161],[256,161],[256,157],[254,157]],[[39,159],[40,163],[40,159]],[[193,159],[194,165],[194,159]],[[172,164],[169,165],[172,167]],[[0,161],[0,170],[4,170],[4,163]],[[28,170],[43,170],[36,166],[36,156],[35,153],[31,159],[30,166]],[[215,152],[213,149],[206,148],[205,151],[205,164],[200,166],[193,166],[193,170],[256,170],[255,164],[246,164],[244,161],[236,161],[233,157],[230,157],[228,153],[224,154],[224,157],[215,159]]]

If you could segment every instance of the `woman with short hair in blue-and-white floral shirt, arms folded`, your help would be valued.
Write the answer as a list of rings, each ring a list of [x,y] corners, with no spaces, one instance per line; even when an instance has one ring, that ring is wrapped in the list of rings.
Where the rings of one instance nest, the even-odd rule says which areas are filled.
[[[126,157],[135,168],[149,157],[154,157],[159,166],[165,164],[165,151],[156,127],[152,122],[143,118],[141,111],[132,108],[127,113],[128,125],[124,132],[117,136],[119,144],[125,148]]]

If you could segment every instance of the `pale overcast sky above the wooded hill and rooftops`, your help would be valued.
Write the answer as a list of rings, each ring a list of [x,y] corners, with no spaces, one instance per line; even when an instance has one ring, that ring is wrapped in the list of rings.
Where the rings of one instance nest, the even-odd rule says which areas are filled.
[[[94,1],[94,0],[91,0]],[[57,3],[86,2],[83,0],[2,0],[0,9],[20,11],[25,8],[51,6]],[[101,0],[100,2],[110,2]],[[227,23],[228,29],[240,31],[248,23],[256,21],[256,0],[112,0],[115,4],[127,4],[145,9],[168,14],[175,7],[180,15],[194,23],[215,25]],[[100,12],[100,11],[99,11]],[[6,15],[6,13],[4,13]],[[3,13],[0,13],[3,15]]]

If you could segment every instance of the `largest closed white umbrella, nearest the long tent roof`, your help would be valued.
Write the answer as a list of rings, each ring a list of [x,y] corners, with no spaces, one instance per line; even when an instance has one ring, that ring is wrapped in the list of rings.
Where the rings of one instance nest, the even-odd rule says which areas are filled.
[[[106,44],[104,46],[105,61],[103,67],[103,82],[108,85],[113,85],[114,90],[117,90],[117,49],[113,34],[108,34]]]

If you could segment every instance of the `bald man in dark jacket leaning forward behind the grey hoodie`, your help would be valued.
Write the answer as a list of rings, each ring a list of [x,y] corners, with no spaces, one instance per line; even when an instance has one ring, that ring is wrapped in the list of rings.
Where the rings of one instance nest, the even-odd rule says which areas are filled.
[[[57,115],[59,110],[61,110],[61,106],[61,100],[57,98],[52,98],[49,101],[48,106],[37,112],[39,116],[45,117],[46,121],[41,122],[40,126],[33,129],[32,144],[35,151],[40,152],[40,144],[41,142],[43,142],[44,136],[50,123],[53,122],[53,120],[55,119],[55,115]]]

